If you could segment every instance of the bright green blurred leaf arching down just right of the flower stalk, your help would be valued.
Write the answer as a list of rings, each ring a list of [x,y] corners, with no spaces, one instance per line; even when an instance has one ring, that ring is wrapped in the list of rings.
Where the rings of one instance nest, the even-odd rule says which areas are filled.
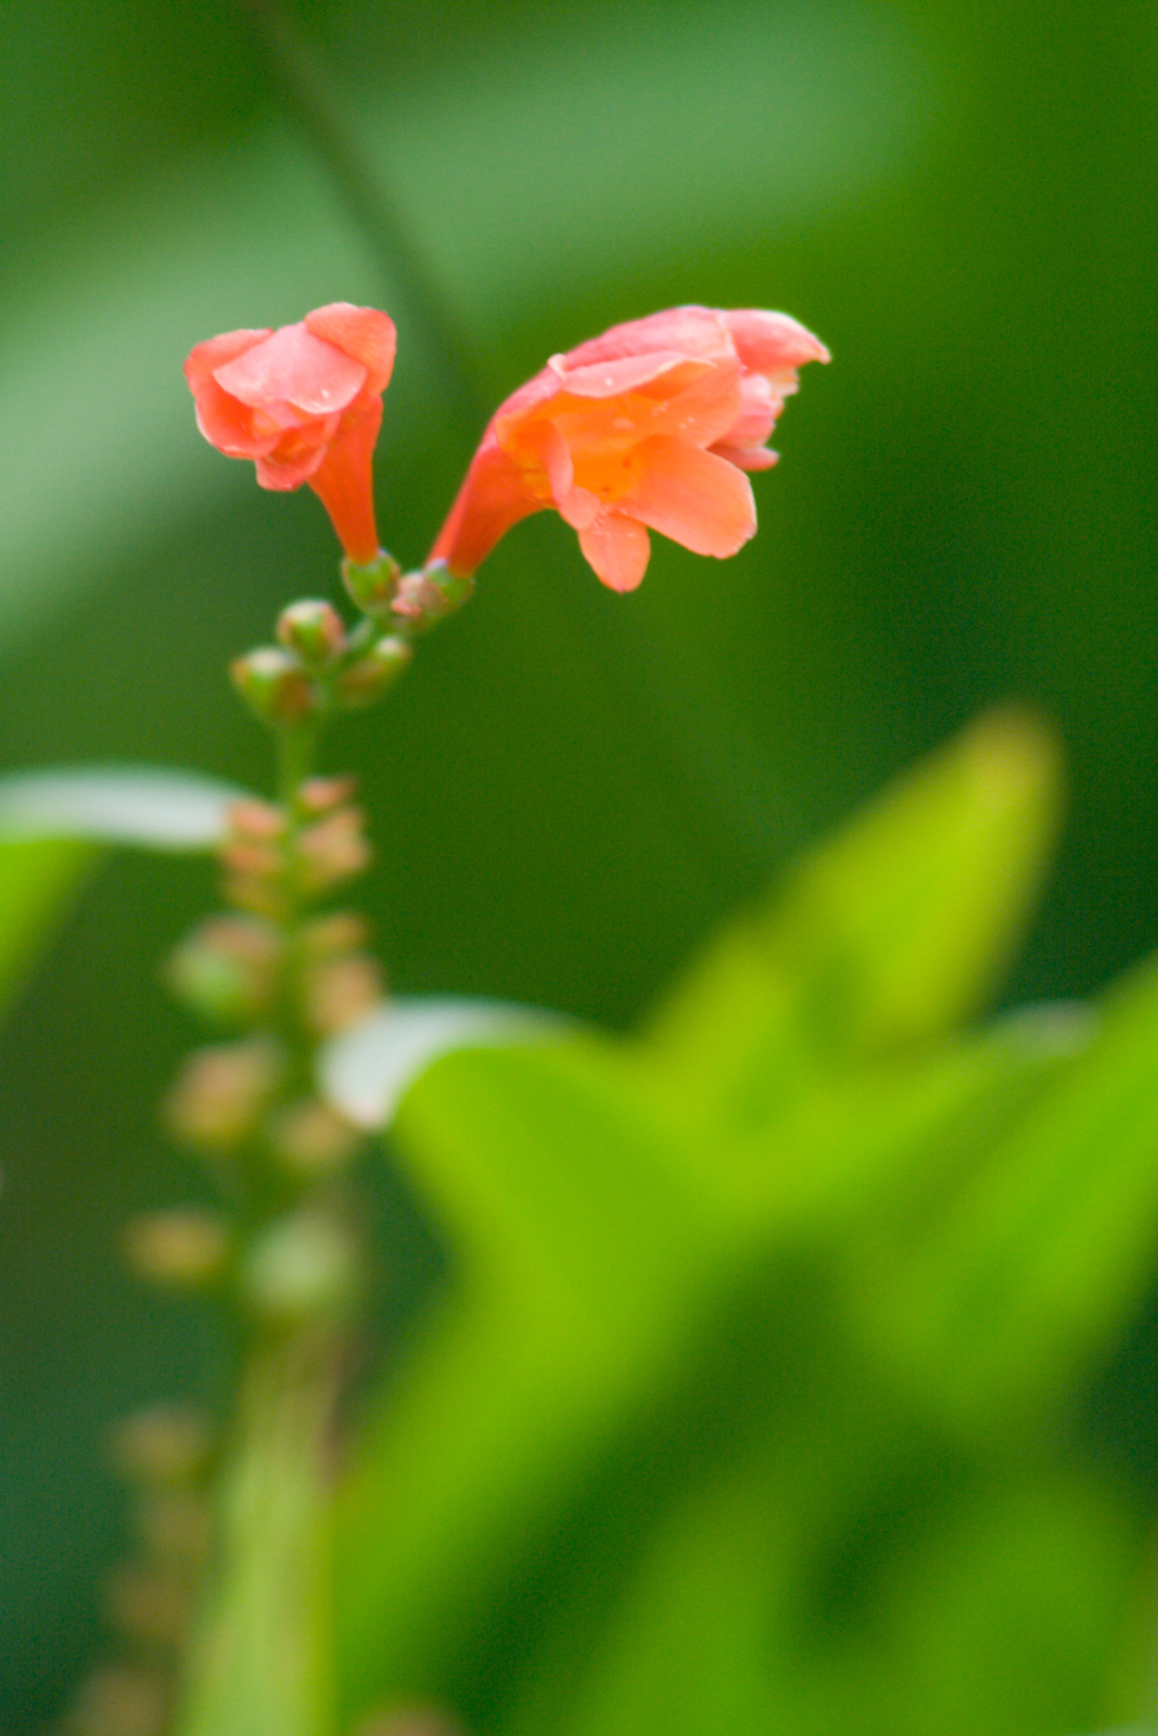
[[[615,1418],[679,1359],[714,1213],[592,1040],[443,1059],[398,1149],[453,1259],[339,1514],[352,1705],[429,1689]]]

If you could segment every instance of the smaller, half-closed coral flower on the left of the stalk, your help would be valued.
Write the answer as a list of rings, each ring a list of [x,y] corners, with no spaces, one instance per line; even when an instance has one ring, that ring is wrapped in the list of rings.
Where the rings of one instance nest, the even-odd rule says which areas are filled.
[[[278,332],[226,332],[186,361],[201,434],[253,458],[262,488],[309,483],[351,561],[378,554],[372,458],[394,366],[394,321],[332,302]]]

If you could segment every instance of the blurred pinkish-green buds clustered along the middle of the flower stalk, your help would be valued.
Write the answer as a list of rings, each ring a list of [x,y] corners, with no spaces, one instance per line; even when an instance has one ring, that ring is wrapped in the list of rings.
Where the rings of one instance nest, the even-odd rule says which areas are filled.
[[[306,630],[304,611],[295,620]],[[325,637],[325,618],[306,627]],[[292,806],[234,804],[217,849],[233,910],[201,922],[167,967],[177,996],[231,1033],[188,1055],[165,1101],[168,1128],[208,1160],[226,1205],[238,1189],[273,1189],[273,1215],[241,1236],[227,1212],[184,1207],[142,1213],[123,1236],[128,1264],[153,1283],[233,1290],[281,1323],[307,1305],[339,1309],[352,1288],[344,1234],[307,1210],[361,1142],[318,1097],[309,1057],[382,996],[365,920],[316,908],[370,861],[352,795],[349,778],[311,778]]]

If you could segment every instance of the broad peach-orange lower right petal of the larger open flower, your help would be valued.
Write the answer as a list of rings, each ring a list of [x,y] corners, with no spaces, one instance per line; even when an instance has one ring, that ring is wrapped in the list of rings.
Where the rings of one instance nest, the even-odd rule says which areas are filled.
[[[622,512],[693,554],[736,554],[755,533],[755,502],[743,470],[700,446],[661,436],[644,446],[648,465]]]

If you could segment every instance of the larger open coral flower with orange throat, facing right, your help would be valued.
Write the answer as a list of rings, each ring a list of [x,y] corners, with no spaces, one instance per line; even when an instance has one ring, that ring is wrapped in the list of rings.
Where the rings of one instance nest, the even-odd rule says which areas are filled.
[[[714,307],[632,319],[552,356],[491,417],[431,561],[472,573],[545,507],[613,590],[644,576],[649,529],[736,554],[755,531],[743,472],[776,462],[766,441],[806,361],[828,351],[788,314]]]

